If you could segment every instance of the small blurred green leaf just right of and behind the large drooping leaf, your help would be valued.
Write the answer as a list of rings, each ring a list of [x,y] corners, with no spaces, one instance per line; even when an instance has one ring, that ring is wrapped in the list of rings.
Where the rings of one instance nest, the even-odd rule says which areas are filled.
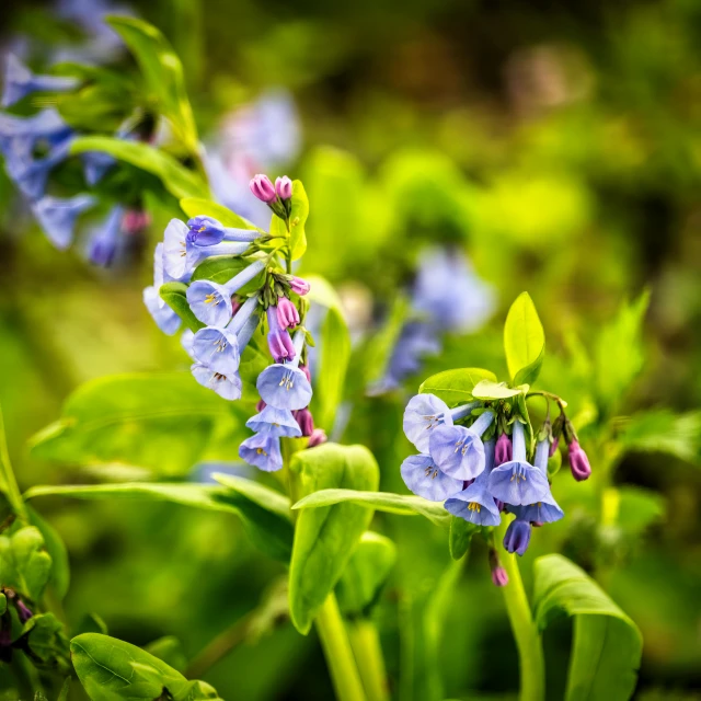
[[[345,616],[367,616],[397,561],[397,545],[384,536],[366,531],[336,585]]]

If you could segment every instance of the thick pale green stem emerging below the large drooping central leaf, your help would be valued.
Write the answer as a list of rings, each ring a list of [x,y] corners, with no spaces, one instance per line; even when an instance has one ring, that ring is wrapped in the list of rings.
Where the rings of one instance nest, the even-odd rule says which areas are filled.
[[[321,646],[338,701],[366,701],[348,633],[343,624],[333,591],[326,597],[315,620]]]

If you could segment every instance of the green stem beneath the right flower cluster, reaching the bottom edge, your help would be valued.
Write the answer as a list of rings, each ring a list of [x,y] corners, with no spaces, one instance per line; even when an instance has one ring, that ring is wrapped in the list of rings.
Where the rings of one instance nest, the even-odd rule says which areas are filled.
[[[502,519],[497,536],[499,541],[504,539],[506,528],[506,519]],[[518,648],[521,676],[519,699],[542,701],[545,696],[545,662],[540,633],[531,616],[516,555],[504,553],[501,561],[508,575],[508,584],[502,590]]]

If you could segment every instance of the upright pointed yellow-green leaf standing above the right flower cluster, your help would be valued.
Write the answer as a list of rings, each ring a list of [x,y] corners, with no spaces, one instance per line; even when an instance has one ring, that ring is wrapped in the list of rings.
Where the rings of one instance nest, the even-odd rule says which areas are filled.
[[[545,333],[528,292],[521,292],[508,310],[504,352],[514,384],[532,384],[543,364]]]

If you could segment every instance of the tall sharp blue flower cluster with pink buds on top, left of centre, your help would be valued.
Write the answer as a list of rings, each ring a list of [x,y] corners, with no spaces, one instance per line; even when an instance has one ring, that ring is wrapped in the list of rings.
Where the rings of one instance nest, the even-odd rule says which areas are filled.
[[[273,184],[266,175],[256,175],[251,192],[286,222],[289,231],[290,179],[278,177]],[[194,360],[192,374],[197,382],[227,400],[241,399],[241,357],[258,326],[267,330],[273,364],[256,379],[258,413],[246,423],[255,434],[241,444],[239,451],[243,460],[267,472],[283,467],[281,437],[304,436],[310,446],[325,440],[323,432],[314,429],[309,411],[311,376],[303,361],[308,335],[302,326],[308,309],[303,297],[309,284],[283,271],[277,258],[278,240],[258,229],[225,227],[208,216],[194,217],[187,223],[172,219],[163,241],[156,246],[153,285],[143,291],[156,323],[163,332],[174,334],[180,317],[159,290],[164,283],[187,284],[187,306],[202,324],[196,332],[183,335],[183,345]],[[241,263],[229,280],[193,279],[202,262],[222,255]]]

